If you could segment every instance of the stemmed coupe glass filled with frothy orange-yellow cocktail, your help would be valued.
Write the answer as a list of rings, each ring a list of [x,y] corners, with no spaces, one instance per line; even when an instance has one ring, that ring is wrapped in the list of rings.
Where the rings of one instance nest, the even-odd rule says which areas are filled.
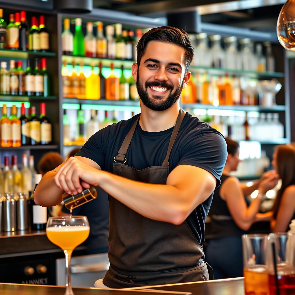
[[[50,217],[47,221],[47,238],[65,253],[67,276],[64,295],[74,295],[71,286],[71,256],[73,250],[87,239],[89,231],[86,216]]]

